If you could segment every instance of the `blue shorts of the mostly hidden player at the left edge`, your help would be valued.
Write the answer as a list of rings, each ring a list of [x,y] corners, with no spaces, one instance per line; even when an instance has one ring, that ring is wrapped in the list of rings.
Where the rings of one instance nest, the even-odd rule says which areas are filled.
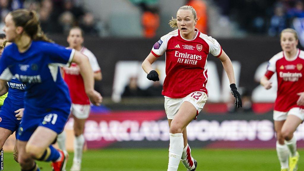
[[[15,117],[17,113],[9,106],[1,106],[0,110],[0,127],[15,132],[18,130],[20,121]]]

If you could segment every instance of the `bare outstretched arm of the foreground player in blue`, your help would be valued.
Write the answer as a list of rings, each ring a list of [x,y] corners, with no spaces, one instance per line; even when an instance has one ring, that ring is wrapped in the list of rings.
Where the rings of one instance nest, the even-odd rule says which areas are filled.
[[[75,51],[72,62],[75,62],[80,68],[80,73],[85,85],[85,92],[87,93],[91,102],[96,106],[100,106],[102,96],[99,92],[94,90],[94,75],[88,58],[79,51]]]

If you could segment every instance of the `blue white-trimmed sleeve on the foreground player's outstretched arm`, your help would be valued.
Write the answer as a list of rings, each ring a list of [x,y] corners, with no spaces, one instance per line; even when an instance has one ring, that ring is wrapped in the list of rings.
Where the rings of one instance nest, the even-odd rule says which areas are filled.
[[[74,49],[66,49],[63,46],[58,44],[46,43],[44,51],[49,56],[49,63],[55,63],[61,66],[69,67],[73,57],[75,50]]]

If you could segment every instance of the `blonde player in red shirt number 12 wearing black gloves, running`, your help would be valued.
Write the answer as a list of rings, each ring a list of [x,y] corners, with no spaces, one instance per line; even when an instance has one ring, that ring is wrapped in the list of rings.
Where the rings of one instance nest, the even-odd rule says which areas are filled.
[[[236,98],[235,105],[242,106],[229,57],[215,39],[195,28],[197,20],[196,11],[191,6],[179,8],[177,18],[169,23],[172,28],[178,29],[161,37],[142,64],[143,70],[148,74],[147,78],[158,81],[158,73],[151,64],[166,54],[166,78],[162,94],[170,126],[168,171],[177,171],[180,161],[187,170],[194,171],[197,167],[187,142],[186,126],[192,119],[196,119],[208,97],[206,60],[209,53],[222,61],[231,84],[231,92]]]

